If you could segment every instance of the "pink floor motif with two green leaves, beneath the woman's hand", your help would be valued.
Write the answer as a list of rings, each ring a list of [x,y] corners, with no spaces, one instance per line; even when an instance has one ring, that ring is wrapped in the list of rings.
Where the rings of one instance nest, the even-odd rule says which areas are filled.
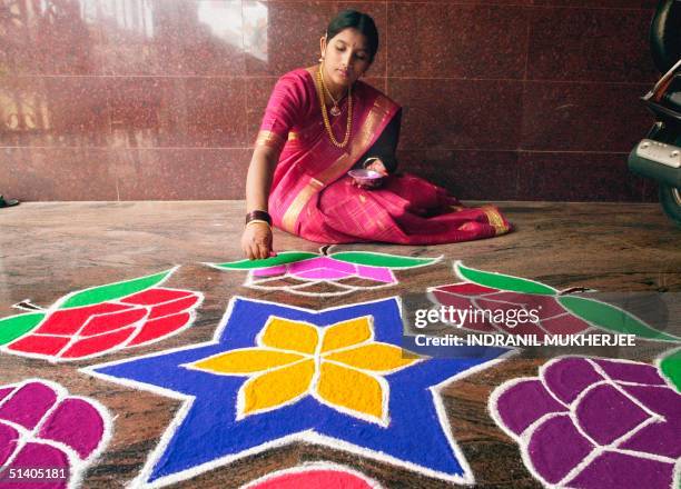
[[[206,265],[219,270],[248,270],[244,286],[251,289],[326,297],[394,286],[398,283],[394,270],[425,267],[442,258],[401,257],[368,251],[327,255],[328,249],[323,247],[319,253],[284,251],[264,260]]]

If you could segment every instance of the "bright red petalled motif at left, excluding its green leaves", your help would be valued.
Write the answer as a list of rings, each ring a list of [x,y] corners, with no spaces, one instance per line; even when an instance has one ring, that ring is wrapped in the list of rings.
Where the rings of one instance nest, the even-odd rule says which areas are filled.
[[[189,290],[151,288],[116,301],[56,309],[4,348],[66,360],[147,345],[189,326],[200,299]]]

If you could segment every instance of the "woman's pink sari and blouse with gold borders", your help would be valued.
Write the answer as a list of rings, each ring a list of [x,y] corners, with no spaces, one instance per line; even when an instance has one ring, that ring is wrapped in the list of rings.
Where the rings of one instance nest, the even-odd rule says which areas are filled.
[[[338,141],[345,134],[346,101],[342,109],[332,122]],[[269,194],[274,223],[324,243],[435,244],[509,232],[511,224],[496,208],[464,208],[445,189],[414,176],[392,174],[373,190],[351,183],[347,171],[398,110],[378,90],[357,81],[351,140],[345,148],[337,148],[324,129],[312,74],[298,69],[282,77],[256,141],[282,149]]]

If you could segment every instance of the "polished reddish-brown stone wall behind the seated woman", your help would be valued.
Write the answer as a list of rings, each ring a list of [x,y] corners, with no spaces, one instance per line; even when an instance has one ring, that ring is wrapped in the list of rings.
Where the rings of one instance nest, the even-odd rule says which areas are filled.
[[[0,193],[241,199],[276,79],[371,13],[402,168],[464,199],[653,200],[654,0],[0,0]]]

